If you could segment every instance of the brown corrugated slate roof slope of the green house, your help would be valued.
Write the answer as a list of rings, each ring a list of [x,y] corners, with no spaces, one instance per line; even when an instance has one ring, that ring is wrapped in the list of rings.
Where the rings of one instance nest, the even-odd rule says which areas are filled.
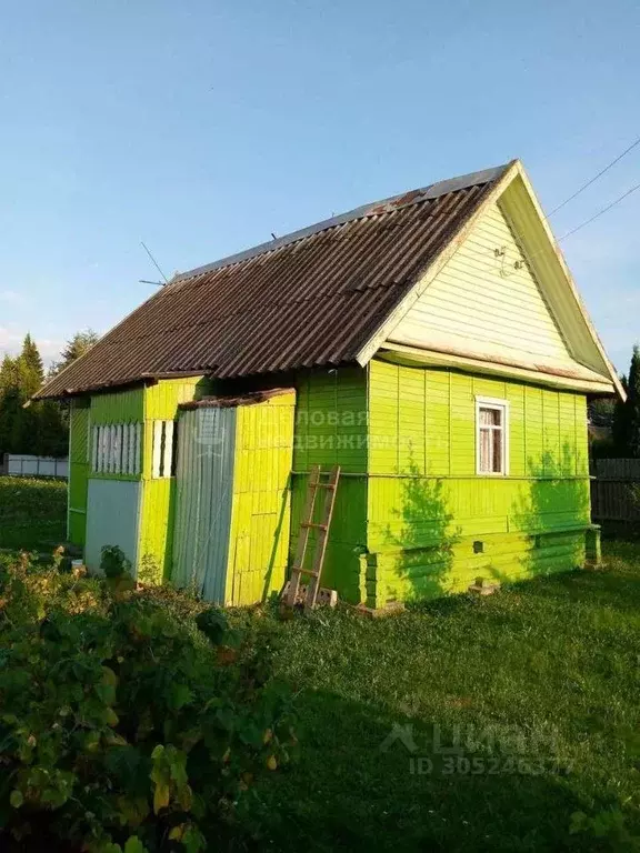
[[[222,379],[354,361],[508,168],[368,204],[177,275],[38,398],[173,373]]]

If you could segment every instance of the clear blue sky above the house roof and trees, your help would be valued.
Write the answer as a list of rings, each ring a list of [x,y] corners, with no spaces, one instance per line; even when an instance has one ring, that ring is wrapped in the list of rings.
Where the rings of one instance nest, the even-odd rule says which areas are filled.
[[[0,352],[106,331],[169,275],[520,157],[547,210],[640,134],[640,6],[0,2]],[[552,225],[640,181],[640,147]],[[640,191],[562,243],[640,338]]]

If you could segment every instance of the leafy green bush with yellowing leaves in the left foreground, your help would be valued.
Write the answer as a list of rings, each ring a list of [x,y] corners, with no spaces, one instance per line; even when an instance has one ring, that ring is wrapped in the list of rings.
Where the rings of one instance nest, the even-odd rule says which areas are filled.
[[[123,578],[0,568],[0,847],[216,849],[289,760],[267,636]]]

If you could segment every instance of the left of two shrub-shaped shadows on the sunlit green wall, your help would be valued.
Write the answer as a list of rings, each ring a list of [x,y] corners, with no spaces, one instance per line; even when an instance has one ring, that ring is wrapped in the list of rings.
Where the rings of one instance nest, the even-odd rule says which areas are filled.
[[[449,592],[453,546],[461,535],[460,528],[453,526],[444,480],[424,478],[411,459],[400,482],[400,508],[391,510],[400,528],[387,526],[384,546],[391,552],[378,555],[377,580],[386,590],[386,601],[378,606],[394,599],[410,601]]]

